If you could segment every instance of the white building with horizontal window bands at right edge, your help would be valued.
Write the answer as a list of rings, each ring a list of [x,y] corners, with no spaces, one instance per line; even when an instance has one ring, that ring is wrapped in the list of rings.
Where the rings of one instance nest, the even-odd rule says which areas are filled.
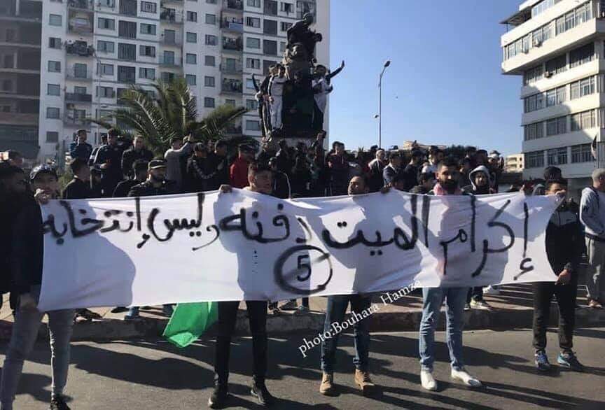
[[[590,144],[605,141],[604,17],[603,0],[527,0],[502,22],[502,72],[522,76],[524,178],[552,165],[574,192],[589,183]]]

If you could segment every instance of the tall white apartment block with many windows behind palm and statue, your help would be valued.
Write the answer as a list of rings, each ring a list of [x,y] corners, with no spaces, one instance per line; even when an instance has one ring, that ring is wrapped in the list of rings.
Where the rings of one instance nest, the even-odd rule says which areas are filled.
[[[80,128],[99,143],[106,129],[87,119],[116,108],[131,85],[153,92],[155,79],[175,76],[186,78],[200,118],[246,106],[229,132],[260,136],[251,75],[262,81],[281,60],[286,30],[307,12],[324,35],[317,59],[328,64],[329,0],[43,0],[39,160]]]

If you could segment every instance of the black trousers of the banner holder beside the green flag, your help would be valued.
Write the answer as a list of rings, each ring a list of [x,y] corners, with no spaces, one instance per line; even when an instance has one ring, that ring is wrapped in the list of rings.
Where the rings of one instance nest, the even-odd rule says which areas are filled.
[[[214,356],[214,383],[218,385],[226,386],[229,379],[231,336],[238,307],[239,302],[218,302],[218,336]],[[246,308],[252,334],[254,381],[264,383],[267,373],[267,302],[246,301]]]

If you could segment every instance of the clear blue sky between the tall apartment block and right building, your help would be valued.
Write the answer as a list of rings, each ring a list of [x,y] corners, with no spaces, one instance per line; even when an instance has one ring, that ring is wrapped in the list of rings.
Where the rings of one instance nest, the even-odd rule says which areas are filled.
[[[321,0],[319,0],[321,1]],[[520,76],[501,74],[500,37],[522,0],[331,0],[330,141],[403,141],[521,152]],[[321,63],[321,62],[320,62]]]

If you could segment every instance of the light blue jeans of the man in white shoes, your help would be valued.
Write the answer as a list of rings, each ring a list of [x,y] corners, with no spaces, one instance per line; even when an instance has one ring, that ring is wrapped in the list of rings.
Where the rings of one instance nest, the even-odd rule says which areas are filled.
[[[420,322],[420,366],[431,372],[435,353],[435,328],[443,299],[447,316],[447,348],[450,350],[452,369],[464,368],[462,360],[462,329],[464,327],[464,303],[468,288],[423,288],[422,321]]]

